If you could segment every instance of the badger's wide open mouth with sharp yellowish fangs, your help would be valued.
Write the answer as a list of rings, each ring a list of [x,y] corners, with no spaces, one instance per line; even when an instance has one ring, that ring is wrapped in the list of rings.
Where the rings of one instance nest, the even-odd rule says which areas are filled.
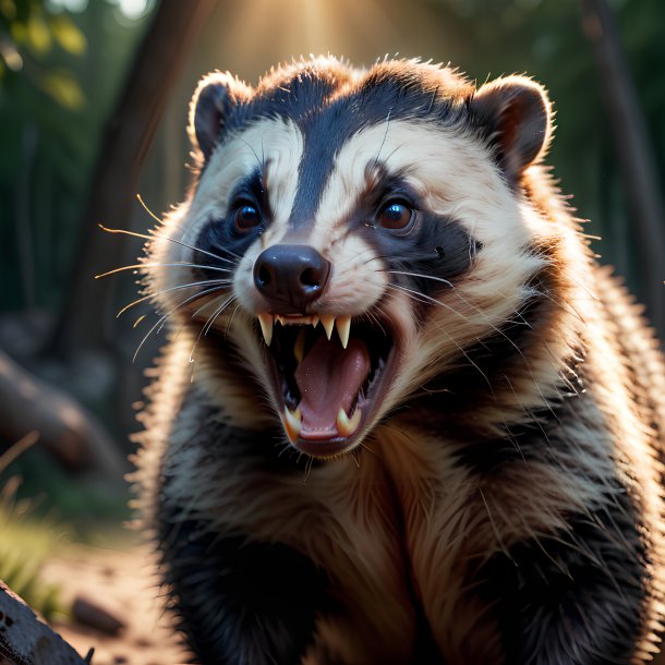
[[[388,326],[349,316],[259,314],[258,322],[289,440],[315,457],[351,449],[389,383]]]

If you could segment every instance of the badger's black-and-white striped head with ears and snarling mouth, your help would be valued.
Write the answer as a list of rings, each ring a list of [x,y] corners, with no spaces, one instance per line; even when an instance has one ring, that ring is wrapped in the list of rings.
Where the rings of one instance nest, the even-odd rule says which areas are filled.
[[[191,116],[201,177],[150,255],[198,287],[182,306],[153,286],[219,332],[298,450],[360,445],[524,300],[542,221],[519,179],[549,126],[531,82],[315,60],[257,89],[208,76]]]

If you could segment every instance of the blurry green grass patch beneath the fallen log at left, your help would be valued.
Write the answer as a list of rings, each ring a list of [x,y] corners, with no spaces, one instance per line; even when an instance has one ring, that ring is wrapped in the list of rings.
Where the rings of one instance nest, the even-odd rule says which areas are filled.
[[[37,443],[37,445],[34,445]],[[35,434],[0,454],[0,579],[47,620],[68,614],[44,564],[72,542],[131,546],[129,488],[66,473]]]

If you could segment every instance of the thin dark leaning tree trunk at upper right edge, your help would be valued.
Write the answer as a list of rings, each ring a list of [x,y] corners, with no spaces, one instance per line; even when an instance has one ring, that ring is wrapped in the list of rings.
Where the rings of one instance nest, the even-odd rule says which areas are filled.
[[[607,0],[582,0],[584,32],[592,41],[609,113],[626,194],[638,238],[649,316],[665,340],[665,204],[653,142],[640,109],[614,15]]]

